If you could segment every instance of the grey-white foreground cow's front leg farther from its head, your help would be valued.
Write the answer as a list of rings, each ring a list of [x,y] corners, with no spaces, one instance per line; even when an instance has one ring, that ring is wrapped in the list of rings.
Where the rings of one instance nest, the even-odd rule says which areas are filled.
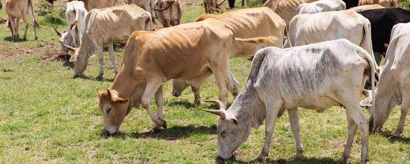
[[[299,134],[299,113],[298,109],[288,109],[289,121],[291,122],[291,129],[295,135],[296,141],[296,158],[303,158],[303,145]]]

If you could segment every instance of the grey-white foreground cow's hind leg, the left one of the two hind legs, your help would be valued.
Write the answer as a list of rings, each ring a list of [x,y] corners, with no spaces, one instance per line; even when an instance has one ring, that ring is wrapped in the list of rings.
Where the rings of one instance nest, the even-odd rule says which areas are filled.
[[[357,125],[352,117],[347,113],[347,140],[344,146],[342,157],[340,158],[340,163],[347,163],[350,158],[350,150],[352,149],[353,140],[355,138],[355,133],[357,130]]]

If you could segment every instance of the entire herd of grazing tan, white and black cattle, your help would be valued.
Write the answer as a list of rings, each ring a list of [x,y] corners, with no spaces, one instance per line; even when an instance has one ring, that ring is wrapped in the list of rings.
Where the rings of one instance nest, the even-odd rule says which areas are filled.
[[[207,0],[207,13],[214,11]],[[303,156],[299,135],[298,107],[323,112],[332,106],[346,108],[347,142],[341,157],[347,162],[354,134],[362,141],[361,163],[368,161],[369,133],[380,131],[393,107],[401,103],[401,116],[394,135],[403,131],[410,107],[410,12],[396,8],[396,0],[268,0],[261,8],[241,9],[219,15],[203,14],[194,23],[181,24],[179,0],[128,0],[67,3],[67,31],[55,31],[61,51],[72,51],[74,76],[81,76],[89,57],[98,52],[104,74],[103,47],[108,46],[115,79],[107,91],[98,91],[104,133],[114,134],[132,107],[142,105],[155,123],[153,130],[167,128],[162,118],[162,84],[173,79],[174,96],[187,87],[200,103],[201,84],[214,74],[219,110],[205,110],[217,120],[218,155],[224,159],[266,120],[266,139],[258,159],[269,153],[276,118],[288,110],[296,139],[296,156]],[[136,5],[134,5],[136,4]],[[358,6],[364,5],[364,6]],[[369,4],[369,5],[366,5]],[[358,7],[354,7],[358,6]],[[0,9],[2,4],[0,3]],[[19,19],[34,19],[32,0],[6,0],[9,19],[2,19],[14,38]],[[347,9],[347,10],[346,10]],[[155,30],[153,14],[167,28]],[[171,27],[172,26],[172,27]],[[289,29],[289,30],[288,30]],[[113,42],[125,42],[118,69]],[[239,93],[229,59],[254,56],[248,80]],[[381,58],[384,64],[379,67]],[[370,76],[372,92],[363,89]],[[377,78],[378,77],[378,78]],[[378,79],[378,81],[377,81]],[[377,85],[375,86],[377,82]],[[235,100],[226,109],[228,92]],[[366,98],[360,101],[361,94]],[[150,99],[155,97],[155,114]],[[367,120],[360,106],[369,109]]]

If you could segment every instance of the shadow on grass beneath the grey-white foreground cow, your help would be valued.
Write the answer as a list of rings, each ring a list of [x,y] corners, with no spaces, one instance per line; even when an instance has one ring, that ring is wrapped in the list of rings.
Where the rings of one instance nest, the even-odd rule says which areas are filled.
[[[256,157],[255,157],[256,158]],[[258,160],[251,160],[251,161],[241,161],[237,160],[235,156],[232,156],[231,158],[227,160],[223,160],[220,157],[216,157],[215,159],[216,163],[338,163],[339,161],[329,158],[329,157],[322,157],[322,158],[317,158],[317,157],[304,157],[304,158],[293,158],[293,159],[269,159],[266,158],[263,162],[258,161]]]

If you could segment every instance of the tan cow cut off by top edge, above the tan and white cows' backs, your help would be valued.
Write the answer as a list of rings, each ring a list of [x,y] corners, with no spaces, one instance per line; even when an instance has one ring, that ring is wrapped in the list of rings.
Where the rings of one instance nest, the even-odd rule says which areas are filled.
[[[286,26],[289,26],[289,22],[291,22],[291,19],[296,15],[296,9],[300,4],[315,1],[317,0],[268,0],[263,6],[271,8],[285,20]]]

